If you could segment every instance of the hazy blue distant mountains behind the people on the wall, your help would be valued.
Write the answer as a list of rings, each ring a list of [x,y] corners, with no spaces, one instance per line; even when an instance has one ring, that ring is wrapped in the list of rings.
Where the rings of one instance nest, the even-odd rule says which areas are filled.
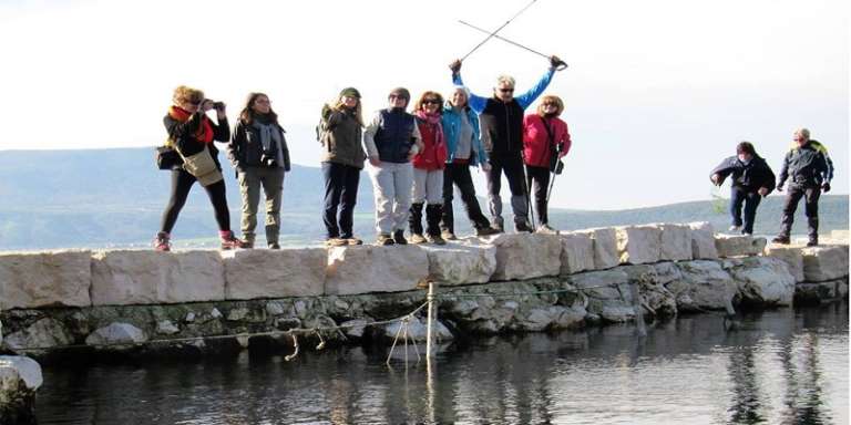
[[[230,222],[238,230],[239,190],[226,163]],[[147,247],[168,198],[170,175],[156,169],[153,148],[0,152],[0,250]],[[316,167],[296,165],[287,174],[285,243],[316,245],[324,238],[322,185]],[[848,229],[848,196],[823,196],[819,207],[823,231]],[[726,208],[725,201],[707,200],[621,211],[551,209],[550,215],[552,224],[564,230],[704,220],[724,230],[729,226]],[[767,198],[759,207],[756,232],[777,232],[781,208],[782,197]],[[802,209],[796,234],[806,231]],[[367,240],[375,236],[372,211],[372,187],[362,173],[355,227]],[[460,206],[455,220],[460,234],[470,232]],[[175,227],[177,246],[212,246],[215,229],[206,194],[194,188]]]

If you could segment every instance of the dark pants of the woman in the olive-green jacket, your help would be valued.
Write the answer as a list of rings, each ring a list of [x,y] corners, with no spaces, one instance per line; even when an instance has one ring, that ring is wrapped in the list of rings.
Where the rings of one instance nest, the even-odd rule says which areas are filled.
[[[322,221],[328,238],[351,238],[355,204],[358,200],[360,168],[325,162],[325,209]],[[337,209],[339,207],[339,220]],[[338,225],[339,224],[339,225]]]

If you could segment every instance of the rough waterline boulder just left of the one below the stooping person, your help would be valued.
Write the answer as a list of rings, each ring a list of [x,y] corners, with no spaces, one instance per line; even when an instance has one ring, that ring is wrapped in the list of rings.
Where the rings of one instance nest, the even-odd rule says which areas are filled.
[[[677,262],[681,278],[666,288],[677,299],[677,310],[721,310],[732,304],[738,286],[717,261],[695,260]]]

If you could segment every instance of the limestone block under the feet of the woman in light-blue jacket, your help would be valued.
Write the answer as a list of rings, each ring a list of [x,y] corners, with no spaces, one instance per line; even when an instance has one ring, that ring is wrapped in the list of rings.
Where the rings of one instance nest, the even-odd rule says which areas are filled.
[[[496,270],[496,247],[448,243],[423,246],[429,256],[429,274],[443,286],[484,283]]]

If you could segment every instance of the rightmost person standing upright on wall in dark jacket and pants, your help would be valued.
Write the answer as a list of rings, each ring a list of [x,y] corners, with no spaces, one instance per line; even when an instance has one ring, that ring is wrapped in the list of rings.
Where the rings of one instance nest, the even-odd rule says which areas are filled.
[[[793,139],[797,146],[786,154],[783,166],[780,168],[780,179],[777,184],[777,190],[781,191],[786,179],[791,179],[783,205],[782,225],[780,235],[771,241],[782,245],[789,243],[794,210],[798,209],[798,201],[803,198],[809,236],[807,246],[813,247],[819,245],[819,196],[822,189],[826,193],[830,190],[830,169],[822,149],[810,142],[809,129],[796,131]]]

